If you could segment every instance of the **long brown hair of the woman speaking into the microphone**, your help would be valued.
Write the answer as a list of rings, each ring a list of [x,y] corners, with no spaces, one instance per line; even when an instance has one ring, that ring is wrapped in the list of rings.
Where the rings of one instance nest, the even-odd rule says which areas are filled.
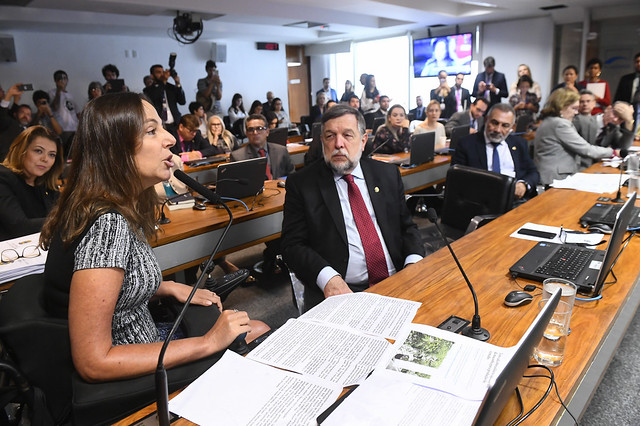
[[[68,246],[109,210],[122,214],[140,238],[154,235],[158,196],[153,187],[142,187],[134,158],[144,133],[143,99],[110,93],[86,105],[66,189],[42,228],[42,247],[56,232]]]

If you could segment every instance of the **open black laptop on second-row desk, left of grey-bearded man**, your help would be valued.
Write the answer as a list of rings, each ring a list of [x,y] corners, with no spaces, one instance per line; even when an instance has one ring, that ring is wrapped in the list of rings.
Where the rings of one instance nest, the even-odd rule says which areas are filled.
[[[253,197],[264,186],[267,158],[252,158],[218,167],[216,193],[225,198]]]

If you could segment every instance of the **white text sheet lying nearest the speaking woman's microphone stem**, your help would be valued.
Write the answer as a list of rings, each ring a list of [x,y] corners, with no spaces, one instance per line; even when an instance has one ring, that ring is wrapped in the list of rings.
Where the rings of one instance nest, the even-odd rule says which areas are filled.
[[[341,391],[226,351],[169,402],[169,410],[201,426],[311,425]]]

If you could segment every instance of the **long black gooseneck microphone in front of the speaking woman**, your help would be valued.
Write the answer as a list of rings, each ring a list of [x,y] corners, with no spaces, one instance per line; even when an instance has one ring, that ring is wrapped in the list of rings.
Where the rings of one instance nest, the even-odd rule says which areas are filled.
[[[176,170],[173,173],[173,175],[177,179],[179,179],[182,183],[189,186],[191,189],[198,192],[203,197],[207,198],[209,201],[216,204],[221,204],[227,210],[227,214],[229,215],[229,223],[227,223],[227,226],[222,231],[222,235],[218,239],[218,243],[213,249],[211,256],[209,256],[209,260],[207,260],[207,263],[204,267],[205,271],[209,270],[210,266],[213,264],[213,258],[218,253],[218,249],[220,248],[222,241],[224,240],[225,236],[227,235],[227,232],[229,231],[229,228],[231,227],[231,222],[233,222],[233,214],[231,213],[231,210],[229,209],[229,207],[227,207],[224,203],[220,201],[220,197],[218,197],[218,195],[216,195],[213,191],[205,188],[196,180],[187,176],[187,174],[184,173],[183,171]],[[180,323],[182,322],[182,318],[187,312],[187,308],[191,303],[191,299],[193,299],[193,296],[196,294],[196,290],[202,287],[202,283],[205,281],[204,278],[206,276],[207,274],[200,274],[200,277],[198,277],[198,280],[196,281],[195,285],[193,286],[193,289],[191,290],[191,293],[189,293],[189,297],[187,297],[187,300],[184,302],[184,306],[180,310],[180,314],[178,314],[178,317],[173,323],[173,327],[171,327],[171,331],[169,331],[169,334],[164,340],[164,343],[162,344],[162,349],[160,349],[160,354],[158,355],[158,365],[156,367],[156,372],[155,372],[155,382],[156,382],[156,399],[157,399],[156,406],[157,406],[157,414],[158,414],[158,423],[160,424],[160,426],[170,425],[169,423],[169,382],[167,380],[167,371],[164,368],[164,354],[167,351],[169,342],[171,342],[173,335],[178,329],[178,326],[180,325]]]

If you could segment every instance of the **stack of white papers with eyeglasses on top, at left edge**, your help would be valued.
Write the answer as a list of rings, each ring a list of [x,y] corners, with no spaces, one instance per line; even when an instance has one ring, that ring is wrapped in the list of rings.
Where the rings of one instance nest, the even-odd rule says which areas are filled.
[[[5,252],[5,257],[23,256],[25,249],[29,253],[34,252],[35,247],[40,242],[40,233],[37,232],[31,235],[25,235],[23,237],[14,238],[12,240],[6,240],[0,242],[0,253]],[[47,261],[47,252],[42,249],[38,249],[39,256],[35,257],[19,257],[17,260],[11,263],[0,262],[0,283],[17,280],[26,275],[39,274],[44,271],[44,264]],[[11,251],[11,253],[9,253]]]

